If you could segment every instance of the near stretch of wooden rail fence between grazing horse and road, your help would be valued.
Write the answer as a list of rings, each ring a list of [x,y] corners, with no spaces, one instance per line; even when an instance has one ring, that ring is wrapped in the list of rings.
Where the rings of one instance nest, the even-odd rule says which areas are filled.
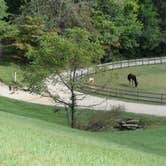
[[[143,90],[126,90],[121,88],[106,88],[101,86],[84,85],[80,87],[81,90],[97,95],[104,95],[110,97],[118,97],[123,99],[135,100],[137,102],[149,102],[166,104],[166,93],[146,92]]]

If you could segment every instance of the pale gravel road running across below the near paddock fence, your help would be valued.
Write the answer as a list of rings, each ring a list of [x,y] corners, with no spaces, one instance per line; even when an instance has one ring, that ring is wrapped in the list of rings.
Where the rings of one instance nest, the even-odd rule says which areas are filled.
[[[69,100],[70,93],[68,90],[62,85],[52,86],[49,85],[49,89],[54,93],[60,95],[61,98],[65,100]],[[58,90],[57,90],[58,89]],[[125,108],[126,112],[133,112],[138,114],[149,114],[156,116],[166,116],[166,106],[161,105],[149,105],[149,104],[140,104],[140,103],[129,103],[119,100],[113,100],[108,98],[101,98],[91,95],[84,95],[77,92],[78,96],[80,96],[81,100],[78,100],[79,108],[88,108],[94,110],[106,110],[109,111],[114,106],[122,106]],[[52,99],[48,97],[42,97],[37,94],[30,94],[29,92],[25,92],[22,90],[17,90],[15,93],[9,91],[8,86],[3,83],[0,83],[0,96],[22,100],[31,103],[37,104],[45,104],[45,105],[57,105],[60,106],[59,103],[54,103]]]

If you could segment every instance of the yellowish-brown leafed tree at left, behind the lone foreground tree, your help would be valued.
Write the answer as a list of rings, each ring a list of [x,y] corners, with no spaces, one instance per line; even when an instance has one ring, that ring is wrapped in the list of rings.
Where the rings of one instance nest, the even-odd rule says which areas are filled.
[[[44,33],[44,23],[39,17],[25,16],[17,23],[18,34],[13,46],[16,49],[15,58],[21,62],[29,62],[25,54],[31,47],[38,45],[38,38]]]

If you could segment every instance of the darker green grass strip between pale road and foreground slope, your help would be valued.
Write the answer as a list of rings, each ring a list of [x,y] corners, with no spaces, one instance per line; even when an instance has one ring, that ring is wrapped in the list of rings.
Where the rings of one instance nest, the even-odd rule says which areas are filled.
[[[58,109],[59,111],[55,113],[55,109]],[[56,123],[63,126],[68,126],[66,120],[66,112],[64,108],[61,107],[39,105],[0,97],[0,111],[33,119],[38,119],[46,122]],[[81,125],[85,125],[98,113],[99,111],[95,110],[80,109],[76,112],[76,118]],[[166,128],[166,117],[157,117],[151,115],[122,112],[116,118],[139,119],[147,125],[148,129]]]

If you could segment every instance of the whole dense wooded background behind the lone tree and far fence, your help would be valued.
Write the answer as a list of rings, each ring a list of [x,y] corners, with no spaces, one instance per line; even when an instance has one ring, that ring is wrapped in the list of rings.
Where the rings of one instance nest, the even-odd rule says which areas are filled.
[[[38,38],[79,27],[98,40],[102,62],[160,56],[166,52],[166,2],[158,0],[0,0],[4,52],[27,62]],[[11,58],[11,57],[10,57]]]

